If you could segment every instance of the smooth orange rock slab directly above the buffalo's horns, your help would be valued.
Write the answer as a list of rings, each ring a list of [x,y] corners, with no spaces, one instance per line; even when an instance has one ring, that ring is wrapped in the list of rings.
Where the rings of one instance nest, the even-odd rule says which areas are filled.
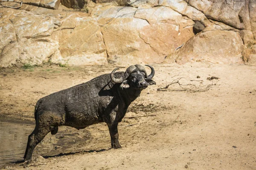
[[[163,59],[139,36],[139,30],[145,26],[148,22],[138,18],[116,18],[103,27],[108,62],[119,65],[162,62]]]

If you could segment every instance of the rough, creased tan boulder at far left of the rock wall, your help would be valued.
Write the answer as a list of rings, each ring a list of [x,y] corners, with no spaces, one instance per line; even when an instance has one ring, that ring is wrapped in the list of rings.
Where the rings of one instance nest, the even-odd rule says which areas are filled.
[[[47,39],[60,22],[53,17],[30,14],[26,11],[1,8],[0,66],[17,62],[41,64],[58,49],[58,42]]]

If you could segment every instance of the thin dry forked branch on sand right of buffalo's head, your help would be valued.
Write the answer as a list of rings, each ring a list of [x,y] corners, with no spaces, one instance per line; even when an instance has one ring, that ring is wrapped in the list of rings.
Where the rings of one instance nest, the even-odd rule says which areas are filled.
[[[204,86],[196,86],[193,84],[181,84],[179,81],[180,79],[182,79],[183,77],[177,78],[175,80],[172,81],[171,84],[166,85],[166,87],[163,88],[158,88],[157,91],[188,91],[188,92],[203,92],[203,91],[208,91],[210,88],[212,88],[213,85],[216,84],[209,84],[209,85],[204,85]],[[169,86],[171,85],[178,85],[178,88],[169,88]]]

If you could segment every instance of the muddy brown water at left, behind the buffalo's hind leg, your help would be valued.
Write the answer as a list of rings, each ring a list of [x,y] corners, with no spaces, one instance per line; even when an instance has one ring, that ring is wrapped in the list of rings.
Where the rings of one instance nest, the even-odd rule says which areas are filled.
[[[0,165],[22,160],[33,125],[0,122]]]

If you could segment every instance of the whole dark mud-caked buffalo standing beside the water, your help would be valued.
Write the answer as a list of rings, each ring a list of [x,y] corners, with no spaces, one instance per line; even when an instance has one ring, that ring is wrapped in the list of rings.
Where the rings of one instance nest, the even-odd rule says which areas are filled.
[[[83,129],[106,122],[111,136],[111,147],[120,148],[117,125],[125,116],[128,106],[147,88],[156,84],[154,68],[147,75],[141,65],[131,65],[125,72],[104,74],[89,82],[76,85],[38,100],[35,106],[35,130],[29,135],[24,160],[32,158],[35,146],[58,127],[65,125]]]

